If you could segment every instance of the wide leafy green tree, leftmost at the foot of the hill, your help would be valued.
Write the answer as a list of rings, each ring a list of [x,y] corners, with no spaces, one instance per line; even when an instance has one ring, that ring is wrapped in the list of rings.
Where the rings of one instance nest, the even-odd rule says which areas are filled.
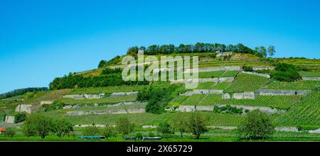
[[[31,114],[23,123],[23,133],[27,136],[40,135],[41,138],[46,138],[48,133],[53,131],[52,118],[41,113]]]

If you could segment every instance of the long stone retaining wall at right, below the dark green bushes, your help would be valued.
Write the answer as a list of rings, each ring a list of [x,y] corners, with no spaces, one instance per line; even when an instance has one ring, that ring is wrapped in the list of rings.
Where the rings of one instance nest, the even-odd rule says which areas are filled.
[[[260,95],[265,96],[292,96],[309,94],[311,90],[289,90],[289,89],[259,89]]]

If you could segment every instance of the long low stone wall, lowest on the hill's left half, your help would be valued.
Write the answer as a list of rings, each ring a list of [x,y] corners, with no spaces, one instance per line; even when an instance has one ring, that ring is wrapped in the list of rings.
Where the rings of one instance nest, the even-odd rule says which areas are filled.
[[[118,110],[99,110],[99,111],[67,111],[68,116],[83,116],[88,114],[120,114],[120,113],[145,113],[144,108],[118,109]]]

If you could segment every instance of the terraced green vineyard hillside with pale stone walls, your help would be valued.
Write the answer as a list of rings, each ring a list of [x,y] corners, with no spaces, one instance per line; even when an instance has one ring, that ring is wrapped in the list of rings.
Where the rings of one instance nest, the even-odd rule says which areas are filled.
[[[122,56],[112,65],[57,78],[48,91],[2,99],[0,122],[8,126],[10,124],[4,123],[4,116],[28,111],[65,118],[75,126],[115,124],[125,116],[141,127],[158,126],[164,121],[172,123],[178,111],[186,114],[199,111],[206,116],[209,126],[234,127],[239,125],[245,113],[260,109],[270,114],[279,127],[320,128],[320,81],[317,79],[320,77],[320,60],[265,58],[243,53],[183,55],[199,56],[199,79],[207,80],[199,83],[196,89],[185,89],[183,84],[170,82],[123,82],[122,65],[119,64]],[[299,70],[302,79],[280,82],[270,78],[274,65],[282,62],[302,68]],[[245,72],[244,67],[252,67],[253,72]],[[312,79],[306,80],[305,77]],[[151,102],[141,100],[142,93],[152,89],[166,92],[159,95],[159,102],[163,104],[161,113],[148,112],[146,106]],[[214,111],[229,105],[241,108],[242,113]],[[177,106],[176,110],[174,106]]]

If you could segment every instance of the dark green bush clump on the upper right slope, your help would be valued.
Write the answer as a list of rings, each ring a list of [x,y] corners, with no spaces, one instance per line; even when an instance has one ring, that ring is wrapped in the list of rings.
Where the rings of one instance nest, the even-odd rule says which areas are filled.
[[[294,65],[279,63],[275,66],[274,71],[270,74],[272,79],[280,82],[294,82],[301,79],[301,76]]]

